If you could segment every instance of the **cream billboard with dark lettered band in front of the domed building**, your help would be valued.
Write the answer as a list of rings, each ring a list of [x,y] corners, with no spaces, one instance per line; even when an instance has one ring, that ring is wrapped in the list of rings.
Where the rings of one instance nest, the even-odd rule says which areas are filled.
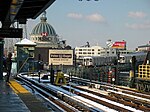
[[[49,50],[49,65],[73,65],[73,50]]]

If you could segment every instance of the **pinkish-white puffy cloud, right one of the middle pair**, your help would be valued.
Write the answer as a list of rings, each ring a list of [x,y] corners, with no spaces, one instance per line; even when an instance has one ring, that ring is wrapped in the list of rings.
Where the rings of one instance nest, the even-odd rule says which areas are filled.
[[[86,19],[93,22],[105,22],[105,18],[98,13],[88,15]]]

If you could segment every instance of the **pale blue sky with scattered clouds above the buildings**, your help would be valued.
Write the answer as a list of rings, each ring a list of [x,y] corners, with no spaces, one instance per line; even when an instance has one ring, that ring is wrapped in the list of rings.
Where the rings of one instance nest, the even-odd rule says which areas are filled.
[[[150,0],[56,0],[47,10],[47,22],[67,45],[99,45],[125,40],[127,49],[150,41]],[[40,16],[27,22],[28,34]]]

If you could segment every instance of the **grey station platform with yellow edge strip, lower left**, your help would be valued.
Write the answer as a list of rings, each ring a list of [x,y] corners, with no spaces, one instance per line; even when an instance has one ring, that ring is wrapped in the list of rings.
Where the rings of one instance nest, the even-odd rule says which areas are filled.
[[[0,112],[52,112],[14,79],[0,80]]]

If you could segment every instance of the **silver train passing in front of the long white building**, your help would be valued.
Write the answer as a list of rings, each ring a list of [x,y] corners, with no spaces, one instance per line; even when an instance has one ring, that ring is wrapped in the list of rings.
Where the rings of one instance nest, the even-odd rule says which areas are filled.
[[[130,54],[124,54],[120,55],[119,59],[118,57],[113,56],[89,56],[89,57],[82,57],[82,65],[83,66],[104,66],[104,65],[111,65],[114,64],[117,60],[120,64],[129,64],[132,61],[132,57],[136,57],[136,63],[137,65],[142,64],[145,57],[146,52],[135,52]]]

